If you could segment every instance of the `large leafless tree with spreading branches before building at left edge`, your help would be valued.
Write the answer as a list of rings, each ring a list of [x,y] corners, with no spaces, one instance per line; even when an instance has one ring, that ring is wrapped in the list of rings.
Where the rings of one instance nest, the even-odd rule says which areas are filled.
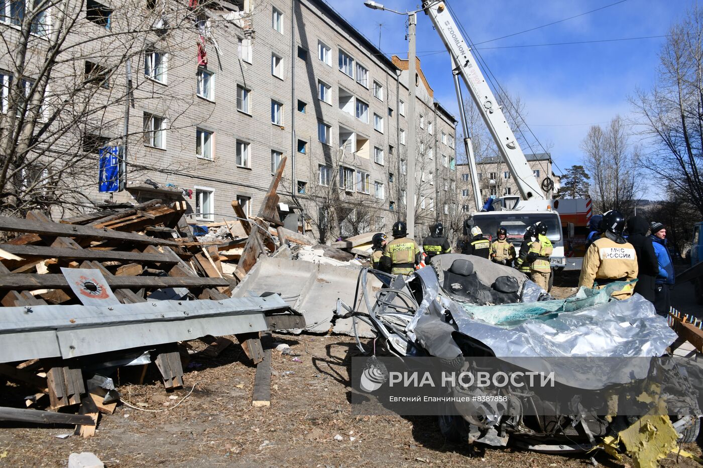
[[[90,206],[100,148],[119,146],[124,161],[130,145],[141,147],[162,131],[193,126],[181,120],[195,99],[195,77],[179,68],[196,60],[198,47],[212,52],[214,30],[224,18],[209,20],[205,13],[223,10],[219,5],[12,3],[13,14],[0,25],[1,213]],[[15,11],[17,5],[22,8]],[[162,86],[166,77],[169,86]],[[190,92],[175,93],[174,85],[186,80],[193,83]],[[156,122],[136,112],[140,102],[161,110]],[[133,174],[147,169],[168,168],[130,166]]]

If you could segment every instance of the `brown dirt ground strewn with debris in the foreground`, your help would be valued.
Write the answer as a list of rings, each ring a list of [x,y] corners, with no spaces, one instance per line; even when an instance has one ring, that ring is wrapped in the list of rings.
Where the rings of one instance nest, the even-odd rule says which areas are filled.
[[[559,285],[554,293],[569,295],[571,287]],[[72,427],[0,426],[0,466],[65,467],[72,452],[93,452],[107,467],[593,466],[583,455],[449,443],[434,417],[357,417],[348,401],[353,338],[274,334],[273,340],[290,344],[302,362],[273,352],[269,408],[252,408],[255,369],[234,344],[217,358],[191,360],[186,388],[172,394],[165,392],[155,369],[143,385],[130,384],[134,376],[115,377],[124,400],[143,410],[173,407],[195,385],[173,410],[118,406],[101,417],[96,436],[87,439],[57,437],[72,433]],[[17,391],[10,385],[0,388],[0,400],[6,403]],[[697,444],[685,448],[701,453]],[[595,460],[608,468],[631,466],[603,453]],[[683,458],[677,464],[670,455],[662,466],[698,465]]]

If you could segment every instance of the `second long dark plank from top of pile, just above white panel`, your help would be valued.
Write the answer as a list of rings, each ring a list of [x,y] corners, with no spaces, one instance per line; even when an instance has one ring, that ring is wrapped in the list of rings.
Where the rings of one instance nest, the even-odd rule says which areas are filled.
[[[144,254],[141,252],[118,252],[117,250],[90,250],[60,247],[43,247],[41,245],[4,245],[7,252],[19,256],[41,257],[44,259],[97,260],[97,261],[136,261],[140,263],[176,263],[164,254]]]

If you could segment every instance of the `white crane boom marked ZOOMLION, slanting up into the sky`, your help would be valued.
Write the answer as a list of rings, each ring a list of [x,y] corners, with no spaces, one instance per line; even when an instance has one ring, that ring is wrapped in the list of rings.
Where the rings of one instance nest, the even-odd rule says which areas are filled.
[[[517,143],[517,138],[496,101],[496,96],[479,70],[469,45],[449,13],[449,8],[446,8],[444,1],[425,1],[423,7],[449,51],[453,63],[458,64],[453,71],[463,78],[486,127],[498,146],[498,151],[505,164],[508,164],[522,199],[546,200],[527,158],[520,149],[520,143]],[[459,106],[461,105],[463,103],[459,103]]]

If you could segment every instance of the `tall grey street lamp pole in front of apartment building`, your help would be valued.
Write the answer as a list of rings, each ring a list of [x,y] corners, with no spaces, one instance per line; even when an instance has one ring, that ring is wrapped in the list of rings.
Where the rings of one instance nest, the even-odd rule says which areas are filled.
[[[364,6],[372,10],[384,10],[399,15],[408,16],[408,188],[406,190],[406,225],[408,226],[408,237],[415,237],[415,13],[418,11],[406,11],[401,13],[390,8],[385,8],[382,4],[367,0]]]

